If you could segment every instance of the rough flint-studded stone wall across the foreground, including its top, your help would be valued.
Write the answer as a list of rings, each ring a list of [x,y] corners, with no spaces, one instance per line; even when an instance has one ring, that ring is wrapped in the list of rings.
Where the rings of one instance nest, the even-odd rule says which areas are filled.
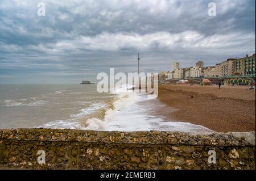
[[[0,129],[2,169],[255,169],[255,132]]]

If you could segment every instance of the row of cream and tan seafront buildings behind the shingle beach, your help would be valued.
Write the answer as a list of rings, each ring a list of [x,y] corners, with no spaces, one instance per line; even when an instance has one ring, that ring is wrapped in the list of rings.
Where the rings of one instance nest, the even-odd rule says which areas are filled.
[[[204,62],[199,60],[196,66],[181,69],[181,61],[171,63],[171,70],[160,73],[160,81],[184,78],[230,78],[236,76],[255,77],[255,53],[243,58],[229,58],[214,66],[204,67]],[[254,78],[255,79],[255,78]]]

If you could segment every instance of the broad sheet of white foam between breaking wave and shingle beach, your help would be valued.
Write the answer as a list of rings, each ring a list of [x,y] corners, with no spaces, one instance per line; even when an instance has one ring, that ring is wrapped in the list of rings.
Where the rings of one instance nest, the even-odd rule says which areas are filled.
[[[181,131],[181,132],[212,132],[210,129],[191,123],[164,121],[162,117],[148,115],[154,105],[147,105],[146,95],[139,96],[129,107],[115,113],[115,119],[108,122],[105,131]],[[150,107],[151,106],[151,107]]]

